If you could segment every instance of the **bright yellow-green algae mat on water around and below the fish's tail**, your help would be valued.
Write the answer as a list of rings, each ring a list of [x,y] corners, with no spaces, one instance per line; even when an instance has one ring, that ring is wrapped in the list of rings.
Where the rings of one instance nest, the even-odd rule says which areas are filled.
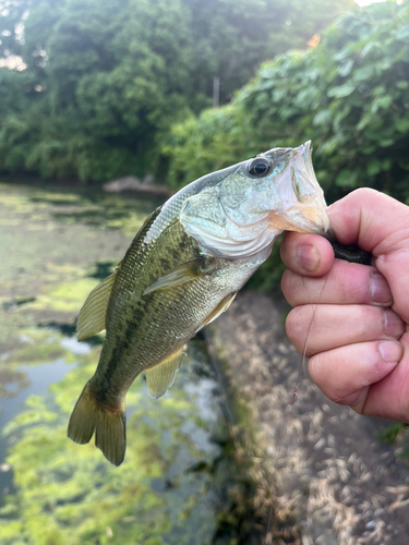
[[[11,440],[7,462],[19,491],[0,509],[4,545],[16,538],[33,545],[105,543],[107,528],[113,544],[154,537],[158,543],[191,543],[189,529],[200,522],[197,517],[212,520],[206,497],[210,477],[185,471],[205,451],[191,437],[192,415],[200,416],[195,399],[181,387],[172,397],[154,401],[144,382],[136,380],[128,403],[133,413],[127,458],[120,468],[108,464],[94,445],[67,439],[69,413],[93,374],[97,350],[79,359],[79,366],[52,386],[48,401],[29,397],[26,411],[4,428],[9,438],[17,437]],[[189,433],[181,431],[187,423]],[[153,483],[158,480],[169,481],[167,487],[156,489]],[[201,509],[195,511],[197,501]],[[11,512],[19,513],[19,524]],[[208,524],[207,540],[214,524]],[[187,541],[173,541],[172,533],[178,540],[182,533]]]

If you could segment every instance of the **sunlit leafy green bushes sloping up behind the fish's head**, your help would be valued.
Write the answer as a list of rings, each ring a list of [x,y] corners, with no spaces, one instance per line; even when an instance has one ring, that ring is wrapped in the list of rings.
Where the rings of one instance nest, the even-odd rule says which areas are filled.
[[[329,199],[372,186],[409,203],[409,5],[340,17],[310,51],[258,70],[232,104],[173,128],[173,187],[276,146],[314,145]]]

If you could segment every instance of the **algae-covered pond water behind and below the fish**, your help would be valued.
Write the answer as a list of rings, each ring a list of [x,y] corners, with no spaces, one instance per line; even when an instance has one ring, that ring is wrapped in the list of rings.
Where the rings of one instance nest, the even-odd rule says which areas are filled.
[[[103,342],[76,341],[76,315],[156,206],[99,189],[0,184],[2,545],[251,542],[233,514],[249,483],[234,464],[228,401],[203,339],[189,344],[159,400],[135,380],[120,468],[93,443],[67,438]]]

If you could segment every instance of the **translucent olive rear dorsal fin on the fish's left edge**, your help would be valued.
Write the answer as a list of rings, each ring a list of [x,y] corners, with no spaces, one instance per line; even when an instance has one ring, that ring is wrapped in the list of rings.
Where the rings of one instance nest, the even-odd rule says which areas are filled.
[[[76,322],[79,341],[88,339],[103,331],[103,329],[106,329],[109,295],[119,268],[120,264],[117,270],[97,286],[87,296]]]

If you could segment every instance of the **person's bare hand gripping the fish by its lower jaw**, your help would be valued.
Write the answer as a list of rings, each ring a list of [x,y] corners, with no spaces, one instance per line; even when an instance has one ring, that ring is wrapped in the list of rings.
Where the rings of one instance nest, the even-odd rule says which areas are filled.
[[[373,266],[334,259],[322,237],[286,233],[287,335],[300,352],[306,341],[310,375],[329,399],[409,423],[409,207],[362,189],[328,216],[337,240],[372,252]]]

